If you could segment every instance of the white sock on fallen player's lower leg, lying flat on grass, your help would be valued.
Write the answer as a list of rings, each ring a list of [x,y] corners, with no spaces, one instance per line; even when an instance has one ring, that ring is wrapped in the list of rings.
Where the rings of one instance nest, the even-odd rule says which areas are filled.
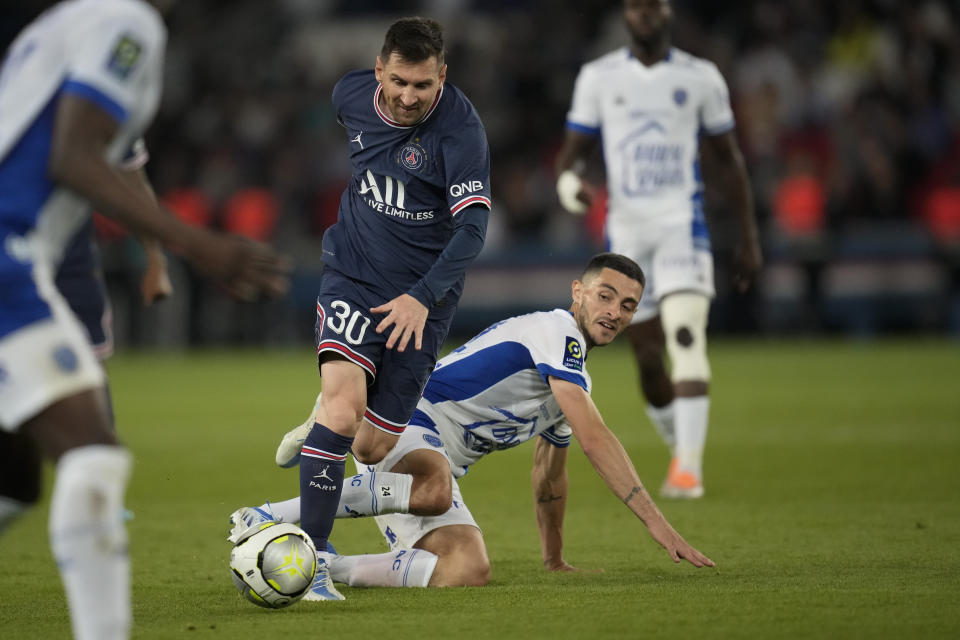
[[[362,556],[335,556],[330,577],[351,587],[426,587],[438,557],[423,549]]]

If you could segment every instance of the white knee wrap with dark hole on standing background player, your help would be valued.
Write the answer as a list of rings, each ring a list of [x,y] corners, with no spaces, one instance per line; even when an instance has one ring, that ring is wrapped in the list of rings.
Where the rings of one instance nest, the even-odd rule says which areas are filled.
[[[707,317],[710,300],[698,293],[680,292],[660,302],[660,317],[673,364],[673,381],[710,380],[707,359]]]

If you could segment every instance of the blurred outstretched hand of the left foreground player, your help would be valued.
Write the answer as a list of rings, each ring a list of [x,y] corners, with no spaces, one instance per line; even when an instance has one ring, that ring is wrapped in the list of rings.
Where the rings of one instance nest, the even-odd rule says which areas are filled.
[[[200,271],[240,300],[278,297],[289,286],[291,260],[248,238],[205,232],[203,242],[194,243],[187,255]]]

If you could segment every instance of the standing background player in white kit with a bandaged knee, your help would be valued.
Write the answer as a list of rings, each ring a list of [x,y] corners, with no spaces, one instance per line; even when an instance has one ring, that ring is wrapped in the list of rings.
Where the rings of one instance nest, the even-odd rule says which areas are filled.
[[[700,144],[717,166],[705,178],[717,181],[739,221],[739,290],[750,285],[762,256],[723,77],[713,63],[671,46],[668,0],[624,0],[623,17],[630,44],[585,64],[577,77],[557,193],[567,210],[586,211],[594,189],[580,172],[602,134],[607,245],[648,277],[648,295],[626,334],[647,414],[673,457],[661,495],[699,498],[710,408],[706,328],[715,293]]]

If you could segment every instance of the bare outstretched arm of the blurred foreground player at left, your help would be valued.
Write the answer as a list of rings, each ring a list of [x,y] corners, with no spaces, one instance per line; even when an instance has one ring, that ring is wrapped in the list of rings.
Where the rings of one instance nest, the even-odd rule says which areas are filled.
[[[105,152],[117,128],[114,117],[98,104],[84,96],[63,94],[50,150],[51,179],[132,231],[176,248],[240,298],[285,290],[286,267],[269,247],[181,223],[162,211],[145,189],[135,188],[121,170],[112,167]]]

